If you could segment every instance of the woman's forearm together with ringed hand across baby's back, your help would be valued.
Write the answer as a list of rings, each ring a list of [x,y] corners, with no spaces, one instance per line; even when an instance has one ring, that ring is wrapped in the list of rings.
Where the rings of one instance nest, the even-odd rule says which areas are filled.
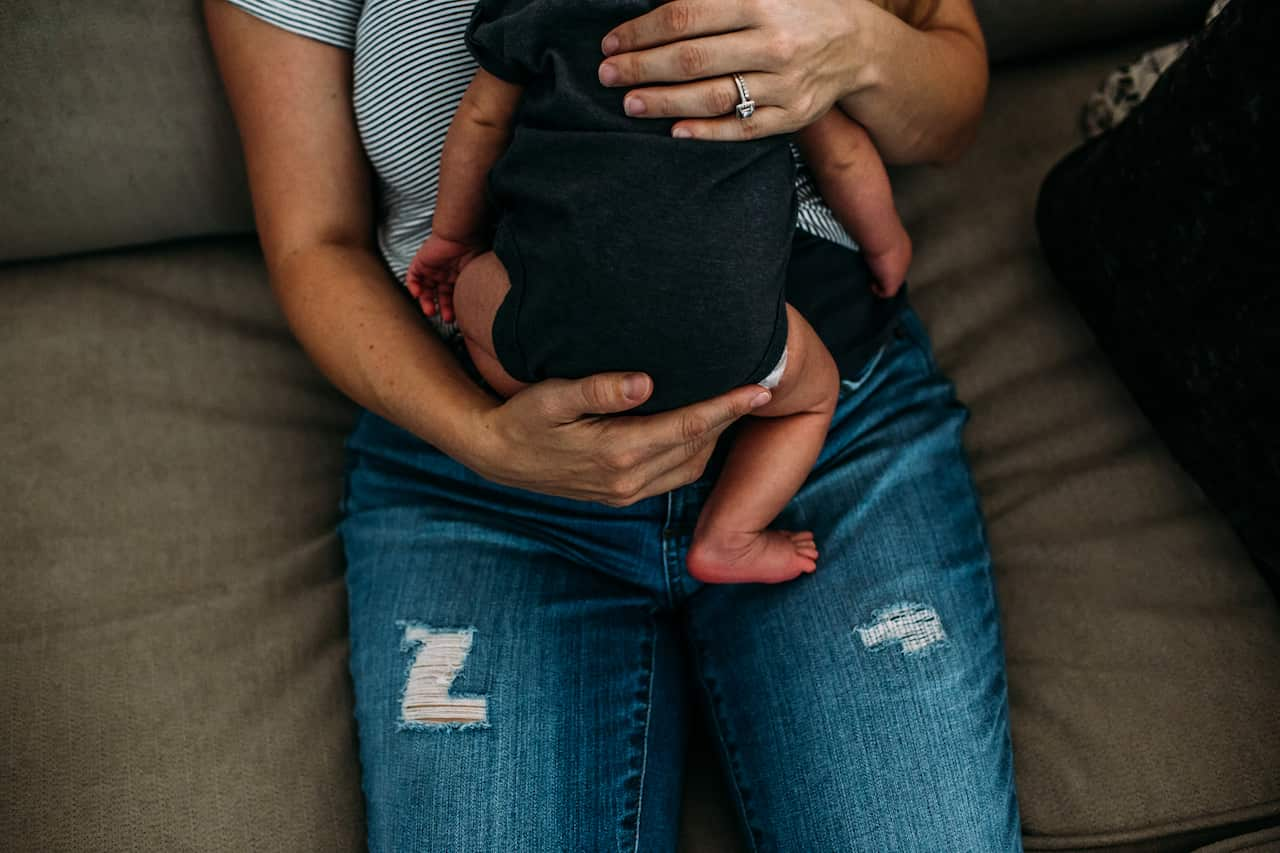
[[[888,163],[957,156],[987,92],[972,0],[941,0],[923,29],[868,0],[672,0],[607,33],[602,50],[602,83],[643,87],[627,93],[632,115],[742,140],[797,131],[838,102]],[[733,73],[756,102],[750,119],[733,114]]]

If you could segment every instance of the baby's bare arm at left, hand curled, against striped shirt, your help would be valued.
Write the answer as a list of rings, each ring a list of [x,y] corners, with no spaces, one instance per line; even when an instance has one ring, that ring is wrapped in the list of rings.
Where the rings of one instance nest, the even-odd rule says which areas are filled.
[[[422,313],[452,323],[458,270],[486,248],[485,181],[511,140],[524,88],[483,68],[462,95],[440,155],[440,190],[431,236],[417,250],[406,284]]]

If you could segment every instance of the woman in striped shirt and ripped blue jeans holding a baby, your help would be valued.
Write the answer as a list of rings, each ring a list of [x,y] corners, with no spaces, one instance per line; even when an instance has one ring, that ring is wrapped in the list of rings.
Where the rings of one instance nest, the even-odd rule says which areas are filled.
[[[367,410],[342,534],[370,848],[673,849],[691,686],[755,848],[1020,849],[965,412],[910,309],[861,301],[865,264],[813,236],[841,238],[818,200],[787,295],[845,380],[777,523],[820,543],[797,581],[685,570],[759,387],[650,416],[595,416],[648,398],[637,374],[503,402],[424,329],[396,278],[474,72],[470,6],[206,0],[276,297]],[[957,154],[986,91],[969,0],[923,31],[867,0],[675,0],[602,33],[599,74],[708,140],[837,104],[895,163]]]

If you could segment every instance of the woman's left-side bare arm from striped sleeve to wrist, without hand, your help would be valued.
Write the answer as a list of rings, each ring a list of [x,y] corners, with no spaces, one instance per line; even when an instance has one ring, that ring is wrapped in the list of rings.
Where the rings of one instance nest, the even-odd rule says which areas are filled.
[[[218,0],[205,13],[271,287],[293,333],[352,400],[449,455],[471,455],[474,428],[461,414],[481,411],[485,394],[424,334],[376,255],[351,54]]]

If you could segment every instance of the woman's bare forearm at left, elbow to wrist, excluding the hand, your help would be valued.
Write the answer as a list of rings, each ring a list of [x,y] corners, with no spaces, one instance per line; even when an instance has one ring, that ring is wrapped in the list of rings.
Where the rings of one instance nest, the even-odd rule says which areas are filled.
[[[475,465],[489,397],[462,370],[369,248],[315,243],[271,265],[289,327],[320,370],[361,406]]]

